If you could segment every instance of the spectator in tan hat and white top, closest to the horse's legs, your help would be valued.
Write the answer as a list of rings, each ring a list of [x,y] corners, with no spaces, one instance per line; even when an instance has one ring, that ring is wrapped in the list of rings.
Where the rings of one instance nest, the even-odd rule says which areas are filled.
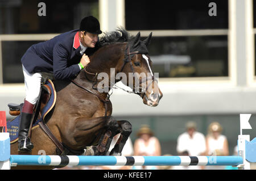
[[[158,138],[154,137],[154,133],[148,125],[142,125],[137,133],[139,137],[134,142],[134,155],[141,156],[160,156],[161,146]],[[134,166],[133,169],[157,169],[156,166]]]

